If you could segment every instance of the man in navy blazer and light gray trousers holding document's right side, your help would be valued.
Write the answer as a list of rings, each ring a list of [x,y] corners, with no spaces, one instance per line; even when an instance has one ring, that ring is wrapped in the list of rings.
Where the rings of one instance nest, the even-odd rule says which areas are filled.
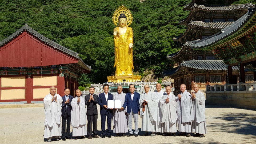
[[[129,134],[127,135],[127,137],[130,137],[133,135],[133,119],[135,123],[134,136],[138,137],[138,133],[139,133],[138,115],[139,115],[140,95],[134,90],[135,90],[135,86],[133,84],[130,84],[130,93],[127,93],[125,95],[125,102],[123,103],[123,107],[121,107],[121,109],[124,109],[124,107],[127,106],[128,128],[129,128]]]

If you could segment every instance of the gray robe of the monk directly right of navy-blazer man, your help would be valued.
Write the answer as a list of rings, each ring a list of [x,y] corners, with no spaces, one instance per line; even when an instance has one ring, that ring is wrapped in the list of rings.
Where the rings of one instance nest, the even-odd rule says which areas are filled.
[[[147,105],[145,105],[145,111],[143,112],[143,100],[147,100]],[[139,98],[140,103],[140,116],[142,118],[142,131],[152,131],[155,132],[155,105],[156,99],[154,93],[150,91],[148,93],[143,93],[142,96]]]

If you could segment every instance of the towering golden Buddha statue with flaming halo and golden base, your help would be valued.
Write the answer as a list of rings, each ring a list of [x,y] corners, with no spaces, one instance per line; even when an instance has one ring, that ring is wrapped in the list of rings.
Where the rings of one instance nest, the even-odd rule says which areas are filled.
[[[129,27],[133,21],[133,16],[130,10],[122,5],[114,12],[112,20],[117,26],[113,30],[115,75],[107,77],[108,82],[140,81],[140,75],[133,75],[133,29]]]

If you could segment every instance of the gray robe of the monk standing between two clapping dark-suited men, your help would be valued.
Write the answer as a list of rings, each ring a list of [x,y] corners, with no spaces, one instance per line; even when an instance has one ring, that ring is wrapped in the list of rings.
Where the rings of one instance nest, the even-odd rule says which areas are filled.
[[[86,108],[85,98],[80,96],[80,102],[77,103],[77,97],[71,102],[71,125],[73,126],[72,136],[87,135],[86,127]]]

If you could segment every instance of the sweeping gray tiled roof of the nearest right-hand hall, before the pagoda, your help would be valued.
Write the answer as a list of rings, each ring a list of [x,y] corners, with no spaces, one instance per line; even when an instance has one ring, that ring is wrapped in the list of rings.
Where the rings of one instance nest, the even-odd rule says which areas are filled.
[[[249,13],[246,13],[237,21],[235,21],[230,26],[221,30],[221,32],[214,34],[208,38],[202,39],[200,41],[192,41],[191,48],[193,49],[203,49],[209,46],[213,46],[215,43],[230,37],[233,34],[242,35],[244,32],[250,29],[250,27],[244,27],[246,23],[250,23],[250,19],[256,17],[255,8],[248,8]],[[255,24],[255,23],[254,23]],[[239,32],[239,33],[238,33]]]

